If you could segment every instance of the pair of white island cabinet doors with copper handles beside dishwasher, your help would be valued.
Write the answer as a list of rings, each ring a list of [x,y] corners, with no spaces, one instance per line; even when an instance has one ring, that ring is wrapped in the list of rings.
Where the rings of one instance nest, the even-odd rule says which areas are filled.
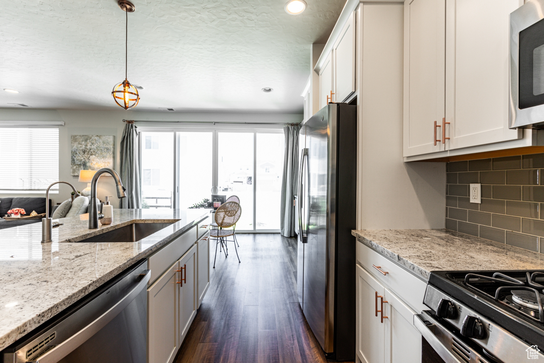
[[[147,289],[147,363],[171,363],[196,316],[196,245]]]

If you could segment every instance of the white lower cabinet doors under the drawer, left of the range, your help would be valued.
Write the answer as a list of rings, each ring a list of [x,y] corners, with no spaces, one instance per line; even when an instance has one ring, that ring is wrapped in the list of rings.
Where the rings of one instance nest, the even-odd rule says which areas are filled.
[[[415,312],[356,265],[356,354],[363,363],[421,363]],[[382,318],[383,316],[383,318]]]

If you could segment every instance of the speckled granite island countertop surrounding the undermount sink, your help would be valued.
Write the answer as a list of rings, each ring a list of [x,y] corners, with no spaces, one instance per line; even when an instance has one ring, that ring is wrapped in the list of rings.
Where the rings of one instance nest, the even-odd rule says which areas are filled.
[[[0,350],[208,215],[207,209],[116,209],[112,224],[89,230],[88,214],[81,214],[59,219],[64,225],[45,244],[41,223],[0,230]],[[77,242],[134,222],[172,224],[137,242]]]

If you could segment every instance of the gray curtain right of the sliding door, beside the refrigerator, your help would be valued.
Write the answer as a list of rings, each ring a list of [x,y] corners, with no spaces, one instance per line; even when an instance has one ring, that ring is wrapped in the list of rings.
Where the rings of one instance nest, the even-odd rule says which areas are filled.
[[[285,157],[283,158],[283,179],[281,181],[280,230],[281,235],[295,235],[295,207],[293,198],[298,193],[299,173],[299,131],[300,125],[285,126]]]

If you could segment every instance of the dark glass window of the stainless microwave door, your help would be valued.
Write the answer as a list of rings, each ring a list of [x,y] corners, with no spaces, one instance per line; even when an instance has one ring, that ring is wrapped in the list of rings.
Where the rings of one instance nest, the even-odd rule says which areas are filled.
[[[544,104],[544,19],[520,32],[520,109]]]

